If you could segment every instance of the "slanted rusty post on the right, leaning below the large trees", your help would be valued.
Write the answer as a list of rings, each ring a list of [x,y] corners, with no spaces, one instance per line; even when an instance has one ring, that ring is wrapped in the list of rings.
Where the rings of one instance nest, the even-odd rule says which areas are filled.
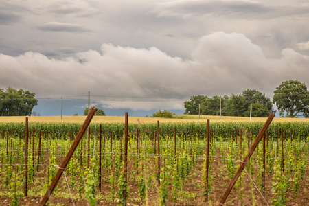
[[[229,186],[227,187],[227,190],[225,190],[225,194],[223,194],[218,205],[223,205],[225,203],[227,196],[229,196],[229,193],[233,189],[233,186],[235,185],[235,183],[238,181],[238,178],[239,178],[240,174],[242,173],[242,170],[244,170],[244,166],[249,162],[249,159],[250,159],[251,155],[253,154],[255,148],[258,146],[258,143],[262,139],[263,134],[266,132],[266,129],[268,128],[269,124],[271,124],[271,121],[273,121],[273,117],[275,117],[275,115],[273,113],[271,113],[269,115],[268,119],[266,120],[264,126],[260,130],[258,137],[256,137],[251,148],[249,149],[248,154],[246,155],[246,157],[244,157],[244,159],[240,163],[240,166],[239,166],[238,170],[236,171],[235,176],[233,177],[233,179],[229,183]]]

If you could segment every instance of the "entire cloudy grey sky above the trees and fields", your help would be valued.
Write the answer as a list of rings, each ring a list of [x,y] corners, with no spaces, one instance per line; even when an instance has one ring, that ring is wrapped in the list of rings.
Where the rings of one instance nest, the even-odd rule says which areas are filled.
[[[284,80],[309,87],[308,22],[308,1],[0,0],[0,88],[44,104],[90,91],[92,105],[133,111],[245,89],[272,98]]]

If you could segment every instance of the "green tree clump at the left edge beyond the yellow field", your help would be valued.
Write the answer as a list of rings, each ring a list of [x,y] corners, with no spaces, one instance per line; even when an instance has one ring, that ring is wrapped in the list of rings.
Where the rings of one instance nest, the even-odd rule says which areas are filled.
[[[13,87],[0,89],[0,114],[1,116],[30,116],[38,100],[35,93],[16,90]]]

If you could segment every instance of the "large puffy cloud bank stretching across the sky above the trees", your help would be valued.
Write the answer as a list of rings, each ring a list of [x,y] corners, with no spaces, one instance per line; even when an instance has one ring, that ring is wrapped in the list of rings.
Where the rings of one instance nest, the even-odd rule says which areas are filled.
[[[283,49],[266,58],[259,45],[238,33],[215,32],[198,41],[190,58],[156,47],[103,44],[61,60],[38,52],[0,54],[0,88],[8,85],[37,98],[87,98],[108,108],[182,109],[191,95],[229,95],[258,89],[271,96],[280,82],[309,86],[309,56]]]

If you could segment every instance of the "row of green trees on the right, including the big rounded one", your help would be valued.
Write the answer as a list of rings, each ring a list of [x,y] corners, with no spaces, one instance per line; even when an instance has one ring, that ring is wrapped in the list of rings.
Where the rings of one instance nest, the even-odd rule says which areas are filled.
[[[215,95],[211,98],[207,95],[193,95],[190,101],[185,101],[185,113],[187,115],[220,115],[248,117],[252,104],[252,117],[268,117],[275,113],[273,104],[278,108],[283,117],[297,117],[304,115],[309,117],[309,91],[306,84],[298,80],[284,81],[273,92],[273,100],[266,97],[261,91],[247,89],[239,95],[225,96]]]

